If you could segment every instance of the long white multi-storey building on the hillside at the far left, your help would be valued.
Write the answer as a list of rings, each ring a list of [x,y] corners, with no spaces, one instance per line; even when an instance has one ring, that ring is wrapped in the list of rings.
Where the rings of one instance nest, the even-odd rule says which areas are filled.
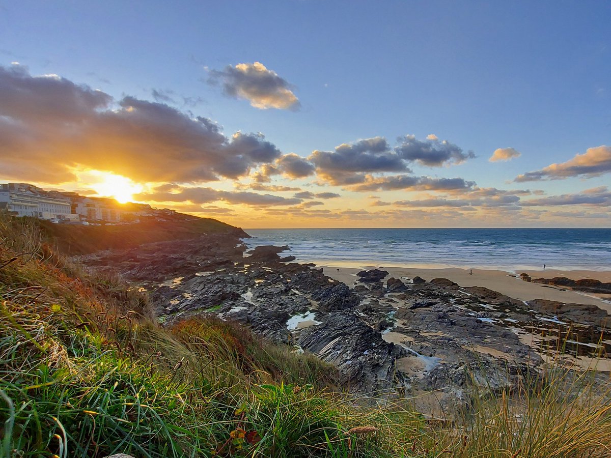
[[[33,216],[40,219],[78,221],[72,213],[70,200],[49,197],[39,187],[26,183],[0,184],[0,209],[16,216]]]

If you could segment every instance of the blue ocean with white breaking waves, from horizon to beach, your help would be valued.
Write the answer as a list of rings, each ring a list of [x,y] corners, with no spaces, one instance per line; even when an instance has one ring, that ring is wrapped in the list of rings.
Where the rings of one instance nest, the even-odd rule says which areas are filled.
[[[246,229],[297,261],[611,271],[611,229]]]

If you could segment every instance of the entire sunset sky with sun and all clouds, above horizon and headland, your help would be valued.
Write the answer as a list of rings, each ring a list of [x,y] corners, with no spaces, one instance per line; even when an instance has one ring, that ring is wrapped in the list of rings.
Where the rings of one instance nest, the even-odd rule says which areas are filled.
[[[0,0],[0,182],[244,228],[611,227],[611,2]]]

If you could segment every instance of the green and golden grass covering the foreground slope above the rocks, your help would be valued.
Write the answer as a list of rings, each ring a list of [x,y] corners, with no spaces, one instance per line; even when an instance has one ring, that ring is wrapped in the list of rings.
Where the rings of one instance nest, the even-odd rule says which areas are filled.
[[[163,329],[148,299],[0,215],[0,456],[609,457],[608,385],[560,368],[431,426],[338,394],[312,355],[239,325]]]

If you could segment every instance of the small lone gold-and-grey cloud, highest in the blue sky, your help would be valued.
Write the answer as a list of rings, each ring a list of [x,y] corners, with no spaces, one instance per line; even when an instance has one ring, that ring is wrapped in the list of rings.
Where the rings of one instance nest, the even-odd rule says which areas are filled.
[[[225,94],[248,100],[259,109],[299,109],[299,100],[291,85],[261,62],[227,65],[224,70],[210,70],[210,84],[221,82]]]

